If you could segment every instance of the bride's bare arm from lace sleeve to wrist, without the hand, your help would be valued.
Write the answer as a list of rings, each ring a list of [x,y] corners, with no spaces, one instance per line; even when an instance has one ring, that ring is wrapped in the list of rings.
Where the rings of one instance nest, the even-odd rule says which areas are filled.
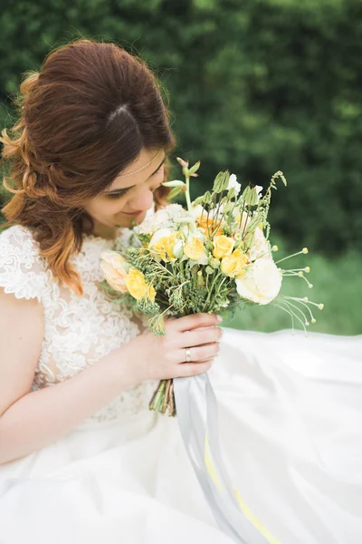
[[[43,306],[0,289],[0,464],[58,440],[138,383],[125,364],[126,344],[80,374],[32,392],[42,343]]]

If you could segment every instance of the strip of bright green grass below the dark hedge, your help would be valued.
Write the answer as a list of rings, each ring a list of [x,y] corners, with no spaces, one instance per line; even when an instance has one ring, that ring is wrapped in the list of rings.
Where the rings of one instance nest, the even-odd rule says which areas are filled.
[[[280,247],[282,244],[278,244]],[[297,249],[298,250],[298,249]],[[274,259],[285,257],[288,253],[280,250]],[[333,335],[362,334],[362,256],[357,252],[347,253],[335,258],[321,255],[301,255],[283,261],[280,266],[289,268],[310,267],[306,274],[313,288],[300,277],[284,277],[281,295],[308,296],[310,300],[323,303],[320,311],[313,308],[317,320],[307,330]],[[237,329],[273,332],[291,328],[291,317],[280,308],[267,306],[246,306],[235,312],[233,317],[224,317],[223,325]],[[295,328],[302,328],[295,324]]]

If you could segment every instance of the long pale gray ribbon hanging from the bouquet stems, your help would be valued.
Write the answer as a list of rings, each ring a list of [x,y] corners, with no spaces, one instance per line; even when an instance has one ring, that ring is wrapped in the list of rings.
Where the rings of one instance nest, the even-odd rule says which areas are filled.
[[[266,544],[268,540],[240,510],[224,467],[218,438],[217,401],[208,375],[174,378],[174,392],[182,439],[217,525],[235,542]],[[206,434],[222,490],[217,487],[205,465]]]

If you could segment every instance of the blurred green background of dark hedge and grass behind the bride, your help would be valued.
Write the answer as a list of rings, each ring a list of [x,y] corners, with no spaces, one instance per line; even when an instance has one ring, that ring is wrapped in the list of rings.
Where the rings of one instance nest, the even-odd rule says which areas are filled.
[[[360,0],[20,0],[5,4],[0,27],[2,126],[14,121],[22,73],[70,39],[141,55],[169,92],[176,154],[202,161],[193,196],[219,170],[258,185],[283,170],[289,187],[273,195],[272,234],[285,251],[312,250],[302,266],[315,265],[313,298],[326,303],[313,330],[362,332]],[[263,311],[231,325],[290,326]]]

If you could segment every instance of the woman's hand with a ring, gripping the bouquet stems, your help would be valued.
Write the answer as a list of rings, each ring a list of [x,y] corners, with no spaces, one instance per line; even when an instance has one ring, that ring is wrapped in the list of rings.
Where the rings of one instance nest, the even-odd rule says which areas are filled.
[[[133,368],[138,383],[207,372],[219,351],[223,334],[222,329],[215,326],[219,323],[215,314],[168,319],[165,335],[147,332],[133,338],[127,346],[123,345],[129,354],[129,370]],[[186,363],[187,347],[190,363]]]

